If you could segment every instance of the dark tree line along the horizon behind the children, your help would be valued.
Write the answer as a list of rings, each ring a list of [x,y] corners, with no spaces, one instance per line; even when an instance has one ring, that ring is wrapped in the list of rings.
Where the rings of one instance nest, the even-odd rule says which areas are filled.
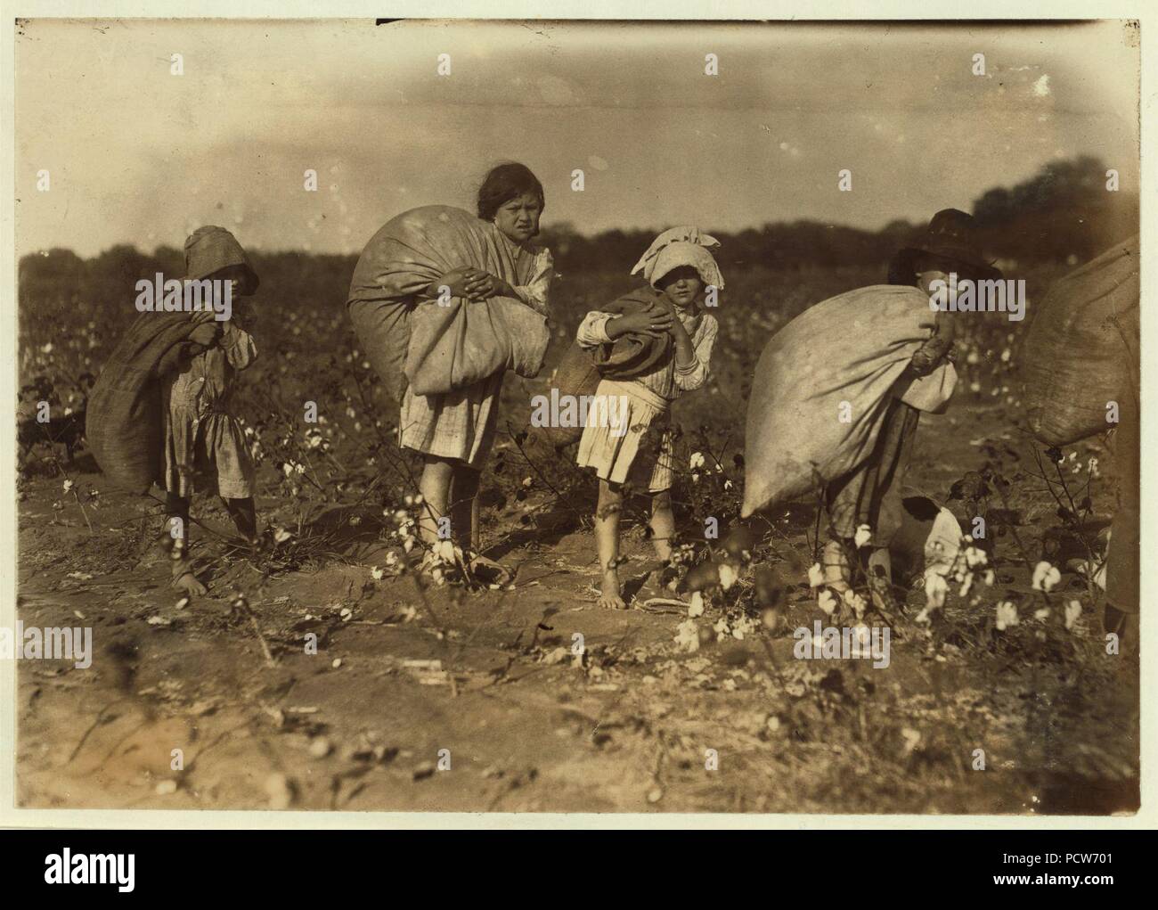
[[[974,201],[987,253],[1018,265],[1045,262],[1085,262],[1138,231],[1138,195],[1128,189],[1107,190],[1107,166],[1093,156],[1051,162],[1012,188],[998,187]],[[930,212],[931,214],[931,212]],[[662,226],[657,226],[657,230]],[[924,225],[894,220],[879,231],[815,220],[775,221],[736,233],[711,230],[720,240],[721,267],[764,267],[776,270],[881,265],[913,242]],[[654,230],[603,231],[585,235],[567,223],[549,224],[538,238],[551,248],[563,274],[599,270],[624,272],[654,238]],[[274,274],[279,284],[344,286],[356,255],[299,250],[252,250],[258,274]],[[71,279],[97,285],[133,283],[157,271],[181,275],[179,249],[157,247],[152,254],[117,245],[90,259],[53,248],[23,256],[21,284],[37,279]]]

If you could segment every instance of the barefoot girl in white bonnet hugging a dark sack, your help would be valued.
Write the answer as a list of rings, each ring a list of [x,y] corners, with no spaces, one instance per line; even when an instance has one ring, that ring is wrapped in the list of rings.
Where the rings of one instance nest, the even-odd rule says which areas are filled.
[[[652,242],[631,274],[643,272],[651,293],[648,301],[623,315],[591,312],[577,333],[582,348],[613,344],[633,334],[660,337],[670,335],[672,355],[651,371],[632,379],[600,380],[596,401],[616,402],[616,420],[598,425],[588,421],[579,443],[578,463],[593,467],[599,475],[599,505],[595,512],[595,540],[602,570],[600,606],[622,610],[620,587],[620,511],[622,485],[630,480],[652,494],[651,531],[655,555],[672,558],[675,515],[672,510],[674,467],[673,434],[669,429],[672,402],[684,392],[699,388],[708,379],[708,364],[716,343],[716,318],[702,308],[709,287],[717,291],[724,278],[709,248],[719,242],[695,227],[673,227]],[[622,402],[626,413],[618,406]],[[624,430],[625,428],[625,430]],[[654,428],[659,441],[652,454],[640,451],[645,431]]]

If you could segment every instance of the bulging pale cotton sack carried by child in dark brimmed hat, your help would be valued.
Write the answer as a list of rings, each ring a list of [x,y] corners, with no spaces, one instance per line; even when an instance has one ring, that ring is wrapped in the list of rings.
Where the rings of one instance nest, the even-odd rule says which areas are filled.
[[[859,466],[892,396],[945,407],[957,384],[951,363],[899,383],[936,315],[917,287],[873,285],[816,304],[772,336],[748,401],[743,517]]]

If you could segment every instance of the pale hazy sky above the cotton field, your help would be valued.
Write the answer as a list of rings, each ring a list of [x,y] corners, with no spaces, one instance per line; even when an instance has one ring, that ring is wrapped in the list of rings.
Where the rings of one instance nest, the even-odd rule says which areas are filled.
[[[16,37],[16,254],[179,247],[203,224],[357,253],[406,209],[472,208],[504,160],[543,182],[544,226],[582,232],[875,230],[1078,154],[1136,190],[1136,44],[1121,22],[34,20]]]

